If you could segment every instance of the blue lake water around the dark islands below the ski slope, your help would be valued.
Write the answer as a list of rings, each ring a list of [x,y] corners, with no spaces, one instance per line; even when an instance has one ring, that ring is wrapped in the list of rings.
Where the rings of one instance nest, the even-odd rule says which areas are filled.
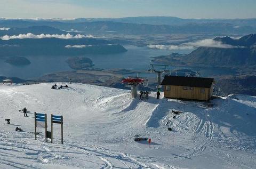
[[[131,69],[145,71],[150,69],[149,63],[151,58],[158,55],[167,55],[170,53],[190,53],[191,50],[153,50],[148,47],[137,47],[132,45],[124,46],[128,51],[125,53],[109,54],[109,55],[91,55],[86,54],[84,57],[90,58],[95,68],[101,69]],[[44,74],[50,74],[57,71],[71,70],[66,63],[67,56],[27,56],[31,64],[27,66],[13,66],[0,60],[0,76],[19,77],[22,79],[30,79],[39,77]],[[170,66],[169,69],[177,69]],[[179,68],[181,69],[181,68]],[[189,69],[189,68],[188,68]],[[196,68],[193,68],[195,70]],[[199,68],[200,69],[200,68]],[[201,75],[204,77],[214,74],[230,74],[230,70],[201,68]],[[142,76],[142,75],[140,75]],[[143,74],[143,76],[155,76],[154,74]]]

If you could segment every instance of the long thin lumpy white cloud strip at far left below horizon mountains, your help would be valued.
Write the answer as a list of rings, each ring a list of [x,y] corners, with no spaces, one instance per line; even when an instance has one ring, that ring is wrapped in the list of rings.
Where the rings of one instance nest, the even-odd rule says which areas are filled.
[[[41,35],[34,35],[31,33],[28,34],[20,34],[20,35],[4,35],[2,37],[0,37],[0,39],[2,40],[10,40],[10,39],[26,39],[26,38],[34,38],[34,39],[40,39],[40,38],[60,38],[60,39],[79,39],[79,38],[94,38],[94,36],[92,35],[81,35],[81,34],[77,34],[77,35],[71,35],[71,34],[41,34]]]

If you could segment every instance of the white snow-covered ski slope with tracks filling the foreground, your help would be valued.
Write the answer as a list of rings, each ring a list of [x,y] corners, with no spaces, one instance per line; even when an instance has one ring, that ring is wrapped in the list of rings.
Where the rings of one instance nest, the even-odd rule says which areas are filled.
[[[0,168],[256,168],[255,96],[207,103],[163,93],[157,100],[153,92],[139,100],[129,90],[52,85],[0,85]],[[18,111],[24,107],[29,117]],[[181,113],[173,118],[172,110]],[[59,124],[53,143],[45,142],[44,128],[35,140],[35,111],[47,114],[48,131],[50,115],[63,115],[64,144]],[[135,135],[152,142],[134,142]]]

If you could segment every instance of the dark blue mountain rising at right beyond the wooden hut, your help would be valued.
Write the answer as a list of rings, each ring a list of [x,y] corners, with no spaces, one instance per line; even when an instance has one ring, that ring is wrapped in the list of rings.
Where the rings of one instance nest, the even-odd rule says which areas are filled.
[[[206,67],[255,67],[256,34],[243,36],[239,39],[217,37],[214,41],[228,45],[227,47],[198,47],[189,54],[177,53],[154,57],[155,62],[169,63],[176,66]]]

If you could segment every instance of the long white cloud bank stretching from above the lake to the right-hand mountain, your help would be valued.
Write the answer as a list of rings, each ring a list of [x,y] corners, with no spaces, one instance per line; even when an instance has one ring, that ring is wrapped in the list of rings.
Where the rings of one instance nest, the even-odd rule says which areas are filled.
[[[219,41],[214,41],[213,39],[203,39],[197,42],[188,42],[181,45],[147,45],[150,49],[160,49],[160,50],[192,50],[196,47],[217,47],[223,49],[231,48],[243,48],[244,46],[233,46],[228,44],[222,44]]]

